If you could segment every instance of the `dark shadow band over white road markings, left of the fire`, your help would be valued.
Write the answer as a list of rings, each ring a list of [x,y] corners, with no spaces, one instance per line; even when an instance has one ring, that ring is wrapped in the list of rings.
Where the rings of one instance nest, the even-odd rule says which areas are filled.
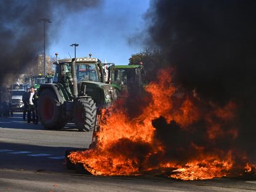
[[[0,169],[70,173],[65,151],[74,148],[0,142]]]

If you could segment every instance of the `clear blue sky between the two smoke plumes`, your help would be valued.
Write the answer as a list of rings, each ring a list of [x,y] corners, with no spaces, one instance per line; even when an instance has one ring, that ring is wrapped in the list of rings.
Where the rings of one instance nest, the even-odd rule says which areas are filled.
[[[143,17],[150,0],[105,0],[103,4],[67,17],[58,29],[58,38],[51,42],[47,55],[59,58],[85,57],[89,53],[102,62],[127,65],[132,54],[142,51],[142,44],[130,43],[145,27]],[[54,19],[52,23],[54,25]],[[69,55],[70,54],[70,55]]]

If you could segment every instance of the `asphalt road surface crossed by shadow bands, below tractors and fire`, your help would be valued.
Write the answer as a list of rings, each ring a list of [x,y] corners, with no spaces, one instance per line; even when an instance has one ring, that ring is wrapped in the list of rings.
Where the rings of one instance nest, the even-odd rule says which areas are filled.
[[[65,167],[65,150],[87,148],[92,132],[73,124],[45,130],[21,113],[0,118],[0,192],[2,191],[256,191],[256,178],[178,181],[156,176],[97,177]]]

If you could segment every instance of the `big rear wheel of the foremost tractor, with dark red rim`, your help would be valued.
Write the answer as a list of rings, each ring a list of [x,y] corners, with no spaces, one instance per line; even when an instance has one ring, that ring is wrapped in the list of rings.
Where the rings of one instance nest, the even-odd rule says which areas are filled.
[[[42,90],[38,105],[39,116],[45,128],[62,129],[65,126],[65,121],[62,119],[62,106],[52,90]]]

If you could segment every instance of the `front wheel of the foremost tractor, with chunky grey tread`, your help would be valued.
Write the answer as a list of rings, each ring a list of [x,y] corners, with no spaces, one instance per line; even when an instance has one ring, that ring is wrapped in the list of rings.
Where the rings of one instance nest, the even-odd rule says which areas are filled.
[[[95,126],[97,107],[92,98],[79,98],[74,103],[74,123],[79,131],[91,131]]]

